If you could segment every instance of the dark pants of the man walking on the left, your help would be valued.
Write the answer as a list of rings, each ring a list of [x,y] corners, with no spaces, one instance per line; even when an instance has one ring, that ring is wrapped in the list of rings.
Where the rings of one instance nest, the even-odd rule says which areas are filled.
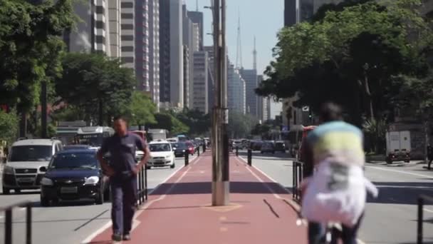
[[[130,233],[137,203],[137,178],[113,179],[110,187],[113,233]]]

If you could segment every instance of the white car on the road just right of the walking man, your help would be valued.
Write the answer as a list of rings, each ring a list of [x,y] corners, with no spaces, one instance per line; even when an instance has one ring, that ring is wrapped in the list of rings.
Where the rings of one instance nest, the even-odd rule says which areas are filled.
[[[172,144],[168,141],[152,141],[149,143],[150,158],[147,161],[147,168],[165,167],[174,168],[174,151]]]

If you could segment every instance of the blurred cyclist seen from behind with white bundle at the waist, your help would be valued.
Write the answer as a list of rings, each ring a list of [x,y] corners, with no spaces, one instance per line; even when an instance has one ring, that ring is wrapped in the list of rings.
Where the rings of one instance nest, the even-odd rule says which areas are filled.
[[[302,215],[308,223],[308,243],[323,243],[327,223],[343,225],[343,244],[357,243],[366,201],[366,189],[377,195],[362,167],[365,157],[362,131],[342,121],[341,108],[325,103],[321,125],[308,134],[302,158]]]

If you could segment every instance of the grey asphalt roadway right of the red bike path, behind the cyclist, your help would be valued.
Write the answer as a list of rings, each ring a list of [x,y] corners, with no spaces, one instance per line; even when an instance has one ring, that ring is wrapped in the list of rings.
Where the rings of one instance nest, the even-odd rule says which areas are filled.
[[[246,159],[246,152],[240,156]],[[253,153],[253,166],[285,188],[292,187],[292,162],[287,154]],[[433,170],[421,163],[367,163],[365,174],[377,188],[377,199],[368,199],[359,238],[371,244],[415,244],[418,195],[433,196]],[[433,205],[424,206],[424,243],[433,243]]]

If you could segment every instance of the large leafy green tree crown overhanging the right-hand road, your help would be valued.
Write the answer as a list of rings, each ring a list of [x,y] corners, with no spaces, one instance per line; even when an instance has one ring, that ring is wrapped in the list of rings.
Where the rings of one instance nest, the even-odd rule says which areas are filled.
[[[275,61],[256,90],[262,96],[298,95],[296,106],[335,101],[359,126],[362,114],[374,119],[391,110],[392,77],[422,76],[432,30],[419,15],[417,0],[353,1],[320,11],[315,21],[278,34]]]

